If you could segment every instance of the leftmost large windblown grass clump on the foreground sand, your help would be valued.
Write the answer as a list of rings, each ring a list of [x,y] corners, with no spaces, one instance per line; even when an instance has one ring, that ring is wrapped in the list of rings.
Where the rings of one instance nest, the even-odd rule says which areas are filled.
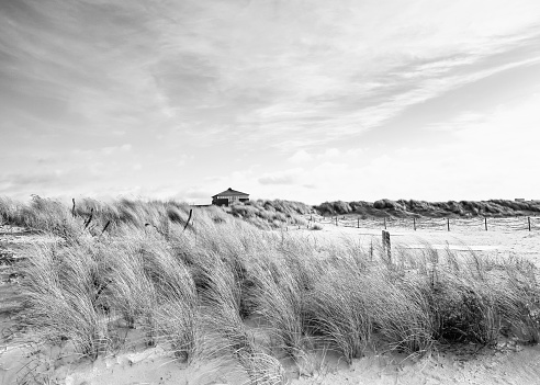
[[[25,324],[41,339],[72,341],[76,350],[95,359],[106,351],[110,336],[100,306],[102,267],[82,247],[36,245],[29,251],[24,276]]]

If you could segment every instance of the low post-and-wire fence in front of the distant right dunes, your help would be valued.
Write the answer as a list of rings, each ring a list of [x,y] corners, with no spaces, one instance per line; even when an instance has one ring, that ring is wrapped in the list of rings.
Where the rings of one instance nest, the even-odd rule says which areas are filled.
[[[391,218],[391,217],[360,217],[360,216],[331,216],[307,215],[311,225],[334,225],[341,227],[374,228],[374,229],[414,229],[414,230],[498,230],[498,231],[538,231],[540,230],[540,217],[473,217],[473,218]]]

